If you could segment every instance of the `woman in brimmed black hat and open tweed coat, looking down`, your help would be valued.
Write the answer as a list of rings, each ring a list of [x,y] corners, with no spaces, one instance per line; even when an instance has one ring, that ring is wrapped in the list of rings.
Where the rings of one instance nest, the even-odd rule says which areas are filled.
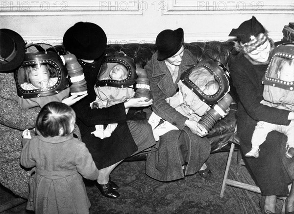
[[[145,66],[154,100],[152,110],[179,129],[160,136],[157,151],[147,157],[146,174],[159,181],[172,181],[198,172],[212,186],[215,179],[205,165],[211,150],[204,137],[207,132],[166,102],[176,93],[187,66],[196,63],[193,54],[184,50],[183,42],[182,28],[163,30],[156,38],[157,52]]]

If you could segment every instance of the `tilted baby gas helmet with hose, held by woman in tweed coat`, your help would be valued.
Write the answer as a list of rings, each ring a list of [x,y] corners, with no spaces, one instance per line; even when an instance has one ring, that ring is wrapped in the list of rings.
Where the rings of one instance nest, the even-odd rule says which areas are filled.
[[[228,94],[230,86],[225,68],[213,60],[202,60],[187,69],[180,80],[195,96],[211,107],[198,121],[207,131],[211,130],[233,101]]]

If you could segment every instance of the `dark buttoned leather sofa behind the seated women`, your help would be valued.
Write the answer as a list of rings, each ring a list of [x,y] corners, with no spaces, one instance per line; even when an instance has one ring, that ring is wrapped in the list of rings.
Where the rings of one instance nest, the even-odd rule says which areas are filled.
[[[184,48],[192,52],[196,57],[196,62],[203,59],[213,59],[224,66],[227,66],[231,51],[234,49],[233,41],[210,41],[184,43]],[[150,43],[128,43],[107,45],[106,53],[113,51],[123,51],[125,54],[134,58],[137,68],[144,68],[152,54],[156,52],[155,44]],[[231,86],[231,96],[237,101],[238,97]],[[207,137],[211,144],[211,153],[228,151],[228,144],[233,140],[235,130],[235,113],[237,110],[236,102],[230,106],[229,114],[217,122],[216,126],[209,132]]]

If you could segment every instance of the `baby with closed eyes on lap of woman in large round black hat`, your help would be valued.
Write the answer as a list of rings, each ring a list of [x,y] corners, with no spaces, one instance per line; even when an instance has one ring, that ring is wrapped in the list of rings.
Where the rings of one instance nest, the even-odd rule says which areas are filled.
[[[115,63],[111,68],[108,77],[104,77],[100,80],[125,80],[128,76],[128,72],[125,66]],[[115,87],[98,87],[96,88],[97,99],[90,104],[92,108],[110,107],[118,103],[122,103],[126,100],[134,97],[134,90],[132,88],[115,88]],[[128,112],[128,108],[126,112]],[[96,131],[92,132],[96,137],[100,139],[110,137],[113,131],[117,128],[117,123],[108,124],[105,128],[104,125],[96,125]]]

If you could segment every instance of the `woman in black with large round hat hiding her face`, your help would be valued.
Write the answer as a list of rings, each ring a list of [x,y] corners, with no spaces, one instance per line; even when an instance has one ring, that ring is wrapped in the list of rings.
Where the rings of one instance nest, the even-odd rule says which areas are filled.
[[[90,108],[95,101],[95,81],[106,49],[106,35],[101,27],[94,23],[79,22],[70,27],[64,34],[65,49],[74,54],[83,67],[87,81],[88,96],[73,105],[76,123],[80,128],[82,141],[89,149],[99,169],[97,187],[101,194],[109,198],[118,198],[119,187],[110,179],[110,173],[125,158],[138,154],[153,146],[152,129],[144,118],[128,120],[125,114],[130,107],[147,107],[153,100],[144,98],[130,100],[105,108]],[[100,139],[94,132],[96,125],[118,123],[110,137]]]

